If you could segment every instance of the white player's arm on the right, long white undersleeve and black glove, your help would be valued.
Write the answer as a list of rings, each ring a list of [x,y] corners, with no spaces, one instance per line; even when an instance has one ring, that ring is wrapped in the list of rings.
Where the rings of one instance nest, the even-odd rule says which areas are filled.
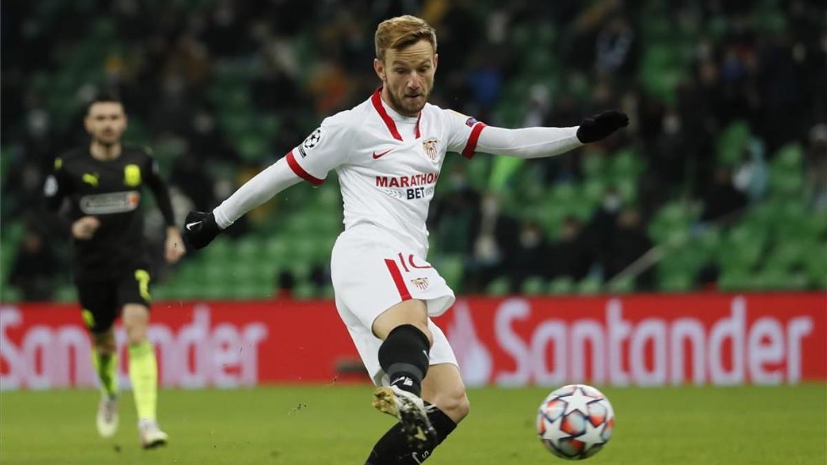
[[[555,156],[603,140],[628,125],[629,117],[613,110],[587,117],[576,127],[485,127],[476,151],[518,158]]]

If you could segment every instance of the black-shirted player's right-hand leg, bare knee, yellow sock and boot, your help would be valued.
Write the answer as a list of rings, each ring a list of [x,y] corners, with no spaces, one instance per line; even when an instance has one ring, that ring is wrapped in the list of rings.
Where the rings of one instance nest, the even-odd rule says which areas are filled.
[[[155,419],[158,393],[158,365],[155,348],[146,339],[149,309],[142,304],[123,306],[123,324],[129,343],[129,379],[138,412],[138,432],[144,448],[155,448],[167,443],[168,436],[161,431]]]

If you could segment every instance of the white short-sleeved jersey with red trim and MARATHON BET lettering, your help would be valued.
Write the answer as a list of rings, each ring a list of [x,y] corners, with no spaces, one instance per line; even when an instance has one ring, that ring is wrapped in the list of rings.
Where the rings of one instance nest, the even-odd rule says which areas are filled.
[[[485,124],[425,104],[418,117],[394,112],[381,89],[351,110],[327,117],[287,154],[290,168],[313,185],[336,170],[345,228],[373,223],[428,253],[428,204],[447,151],[474,156]]]

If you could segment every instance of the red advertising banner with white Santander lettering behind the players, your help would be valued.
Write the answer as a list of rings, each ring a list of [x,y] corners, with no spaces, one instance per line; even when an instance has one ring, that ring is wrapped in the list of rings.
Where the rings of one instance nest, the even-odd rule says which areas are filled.
[[[332,383],[358,362],[330,301],[162,302],[151,320],[164,386]],[[471,386],[827,380],[825,293],[471,298],[436,321]],[[0,307],[0,389],[96,384],[76,305]]]

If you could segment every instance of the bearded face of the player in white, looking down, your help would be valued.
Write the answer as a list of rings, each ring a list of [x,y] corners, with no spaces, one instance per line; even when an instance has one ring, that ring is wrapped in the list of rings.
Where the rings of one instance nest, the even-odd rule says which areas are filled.
[[[375,60],[376,74],[385,84],[390,106],[404,116],[415,117],[428,102],[437,71],[437,54],[425,39],[402,50],[388,50],[385,61]]]

